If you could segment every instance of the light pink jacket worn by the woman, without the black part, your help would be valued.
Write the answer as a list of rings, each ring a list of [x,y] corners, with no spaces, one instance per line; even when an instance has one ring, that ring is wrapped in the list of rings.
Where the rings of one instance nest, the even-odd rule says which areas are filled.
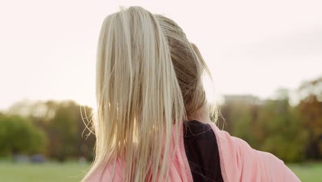
[[[276,156],[250,148],[241,139],[230,136],[228,132],[219,130],[215,123],[213,129],[219,152],[220,167],[224,182],[235,181],[300,181],[297,176]],[[189,162],[184,150],[183,134],[180,134],[180,147],[175,151],[175,160],[171,162],[170,181],[193,181]],[[122,168],[117,163],[114,180],[122,181]],[[99,170],[91,181],[111,181],[112,167]]]

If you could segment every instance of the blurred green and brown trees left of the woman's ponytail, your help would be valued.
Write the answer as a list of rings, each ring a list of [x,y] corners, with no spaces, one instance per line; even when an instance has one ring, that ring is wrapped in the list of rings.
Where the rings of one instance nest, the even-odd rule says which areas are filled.
[[[0,115],[0,155],[42,153],[58,161],[92,160],[95,136],[86,128],[91,119],[92,109],[74,101],[21,101]]]

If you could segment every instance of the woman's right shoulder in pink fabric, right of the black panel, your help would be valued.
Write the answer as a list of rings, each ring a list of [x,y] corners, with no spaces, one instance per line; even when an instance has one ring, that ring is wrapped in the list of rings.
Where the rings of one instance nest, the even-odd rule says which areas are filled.
[[[251,148],[215,123],[209,125],[217,139],[224,181],[300,181],[275,155]]]

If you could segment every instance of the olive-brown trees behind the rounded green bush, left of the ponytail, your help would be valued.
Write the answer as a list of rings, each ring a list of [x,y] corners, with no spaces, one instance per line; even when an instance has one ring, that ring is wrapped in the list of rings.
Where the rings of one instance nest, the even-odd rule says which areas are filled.
[[[88,121],[92,119],[92,108],[74,101],[21,101],[9,112],[25,115],[47,134],[46,156],[60,161],[78,156],[93,159],[95,136],[87,135],[89,131],[86,129],[86,125],[90,128]]]

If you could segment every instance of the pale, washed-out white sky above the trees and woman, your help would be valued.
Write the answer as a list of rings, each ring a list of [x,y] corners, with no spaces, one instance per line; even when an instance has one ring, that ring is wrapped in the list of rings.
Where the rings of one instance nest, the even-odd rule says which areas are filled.
[[[322,76],[322,1],[1,1],[0,110],[21,99],[93,105],[100,26],[118,6],[176,21],[219,94],[267,98]]]

